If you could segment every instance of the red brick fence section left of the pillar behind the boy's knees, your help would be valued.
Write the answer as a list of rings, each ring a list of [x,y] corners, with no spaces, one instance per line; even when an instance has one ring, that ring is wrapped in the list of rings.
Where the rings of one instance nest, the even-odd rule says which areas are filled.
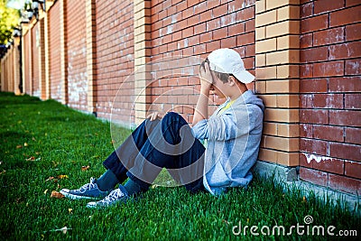
[[[114,117],[124,122],[130,121],[134,102],[134,81],[127,79],[134,72],[133,8],[133,1],[96,3],[97,116],[110,119],[111,108],[115,107],[118,116]]]

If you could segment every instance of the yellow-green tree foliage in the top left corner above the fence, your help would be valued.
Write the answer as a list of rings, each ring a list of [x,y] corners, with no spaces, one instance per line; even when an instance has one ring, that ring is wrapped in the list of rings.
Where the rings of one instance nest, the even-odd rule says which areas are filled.
[[[19,11],[7,7],[6,3],[6,0],[0,0],[0,44],[5,44],[11,39],[20,18]]]

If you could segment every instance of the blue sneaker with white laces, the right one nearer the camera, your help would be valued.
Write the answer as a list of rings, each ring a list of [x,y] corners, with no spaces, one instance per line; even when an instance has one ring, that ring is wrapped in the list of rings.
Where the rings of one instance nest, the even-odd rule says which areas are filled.
[[[91,201],[87,204],[87,208],[106,208],[113,206],[117,203],[124,203],[129,198],[128,192],[125,187],[119,185],[119,188],[112,190],[105,199],[99,201]]]

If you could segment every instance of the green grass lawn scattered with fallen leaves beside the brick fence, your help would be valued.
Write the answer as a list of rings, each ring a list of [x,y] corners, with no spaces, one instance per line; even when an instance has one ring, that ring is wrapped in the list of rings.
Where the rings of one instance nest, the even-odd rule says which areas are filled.
[[[10,240],[310,240],[356,230],[354,212],[301,192],[284,193],[273,181],[255,178],[247,190],[234,189],[215,198],[185,189],[157,187],[143,199],[109,209],[87,209],[87,201],[51,198],[51,191],[79,188],[104,171],[102,161],[114,148],[109,123],[64,107],[53,100],[0,93],[0,235]],[[124,130],[123,135],[129,134]],[[89,166],[82,171],[82,166]],[[63,175],[63,176],[60,176]],[[62,178],[61,178],[62,177]],[[305,225],[304,218],[313,222]],[[285,227],[278,235],[274,226]],[[242,232],[235,236],[241,225]],[[245,227],[248,226],[248,227]],[[255,226],[251,234],[250,227]],[[271,235],[265,227],[270,227]],[[307,228],[325,227],[325,236]],[[67,232],[57,229],[67,227]],[[258,229],[255,229],[255,228]],[[262,227],[264,227],[262,229]],[[246,229],[245,229],[246,228]],[[245,230],[245,236],[243,234]],[[64,234],[65,233],[65,234]],[[357,239],[355,236],[348,239]]]

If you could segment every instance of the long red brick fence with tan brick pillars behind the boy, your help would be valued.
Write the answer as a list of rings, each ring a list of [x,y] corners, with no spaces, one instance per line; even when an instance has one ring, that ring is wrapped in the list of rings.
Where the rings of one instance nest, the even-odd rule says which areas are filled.
[[[23,24],[24,93],[122,123],[150,109],[191,122],[200,60],[232,48],[266,106],[259,160],[360,194],[359,1],[46,2]],[[15,52],[1,62],[3,91],[19,91]]]

